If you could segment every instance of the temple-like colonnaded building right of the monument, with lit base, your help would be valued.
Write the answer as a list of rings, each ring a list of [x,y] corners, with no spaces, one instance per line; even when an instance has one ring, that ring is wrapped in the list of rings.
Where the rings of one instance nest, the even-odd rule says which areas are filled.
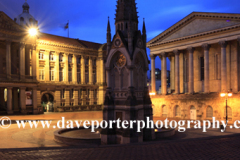
[[[152,96],[154,116],[181,119],[240,117],[240,14],[193,12],[147,43],[152,93],[155,59],[161,59],[162,94]],[[170,60],[170,88],[166,60]]]

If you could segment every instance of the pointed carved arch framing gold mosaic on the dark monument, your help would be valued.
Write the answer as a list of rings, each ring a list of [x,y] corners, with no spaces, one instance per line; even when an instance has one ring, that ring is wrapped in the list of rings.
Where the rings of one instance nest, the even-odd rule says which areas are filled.
[[[106,68],[111,68],[111,64],[112,64],[114,57],[119,53],[122,53],[126,57],[126,62],[127,62],[126,65],[127,66],[131,65],[131,58],[130,58],[126,48],[118,48],[118,49],[113,49],[110,51],[108,58],[107,58],[107,62],[105,64]]]

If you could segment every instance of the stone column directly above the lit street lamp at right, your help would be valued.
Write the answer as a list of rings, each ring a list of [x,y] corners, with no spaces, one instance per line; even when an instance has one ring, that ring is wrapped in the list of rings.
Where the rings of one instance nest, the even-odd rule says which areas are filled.
[[[221,46],[221,91],[227,92],[227,65],[226,65],[226,42],[220,41]]]

